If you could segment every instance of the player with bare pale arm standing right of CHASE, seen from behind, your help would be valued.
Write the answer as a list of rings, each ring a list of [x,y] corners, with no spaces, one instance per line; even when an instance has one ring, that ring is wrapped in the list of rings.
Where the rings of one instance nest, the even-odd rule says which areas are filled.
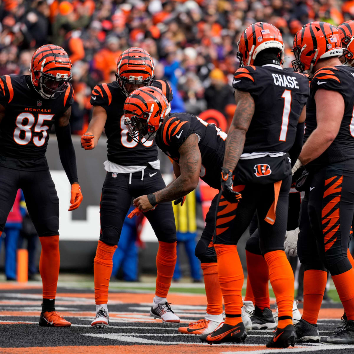
[[[302,342],[353,344],[354,269],[347,248],[354,211],[354,68],[341,65],[339,32],[326,22],[304,25],[294,38],[293,51],[294,69],[314,73],[306,112],[306,142],[293,168],[295,171],[304,165],[308,171],[297,245],[305,270],[304,310],[296,332]],[[351,59],[347,51],[344,57]],[[348,321],[341,331],[319,339],[316,323],[326,269]]]

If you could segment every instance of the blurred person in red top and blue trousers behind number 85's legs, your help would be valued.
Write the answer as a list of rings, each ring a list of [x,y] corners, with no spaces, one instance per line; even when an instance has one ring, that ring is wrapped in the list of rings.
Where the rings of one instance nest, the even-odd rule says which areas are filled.
[[[17,242],[22,228],[22,218],[26,211],[24,196],[22,190],[19,189],[0,237],[0,247],[2,240],[5,243],[5,275],[7,280],[16,280]]]

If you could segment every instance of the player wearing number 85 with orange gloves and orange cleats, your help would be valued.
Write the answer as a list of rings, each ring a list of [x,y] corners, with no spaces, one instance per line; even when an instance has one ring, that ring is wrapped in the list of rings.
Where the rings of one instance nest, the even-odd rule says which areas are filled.
[[[55,310],[60,263],[59,199],[45,157],[48,129],[54,124],[59,156],[72,186],[69,211],[78,208],[82,194],[69,124],[74,95],[69,84],[71,68],[63,48],[48,44],[34,52],[30,75],[0,77],[0,235],[21,188],[42,245],[40,326],[71,325]]]

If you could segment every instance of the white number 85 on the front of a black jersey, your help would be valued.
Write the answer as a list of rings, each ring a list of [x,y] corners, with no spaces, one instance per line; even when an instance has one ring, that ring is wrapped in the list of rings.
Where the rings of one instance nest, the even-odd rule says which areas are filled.
[[[47,137],[48,133],[48,126],[42,125],[45,120],[52,120],[54,114],[38,114],[37,124],[34,127],[35,133],[42,132],[42,136],[35,136],[33,137],[33,144],[36,146],[42,146],[45,143],[45,138]],[[23,120],[27,119],[27,124],[23,124]],[[13,140],[19,145],[27,145],[32,139],[32,130],[35,118],[32,113],[24,112],[17,116],[16,118],[16,128],[13,131]],[[24,137],[20,137],[21,131],[24,131]]]

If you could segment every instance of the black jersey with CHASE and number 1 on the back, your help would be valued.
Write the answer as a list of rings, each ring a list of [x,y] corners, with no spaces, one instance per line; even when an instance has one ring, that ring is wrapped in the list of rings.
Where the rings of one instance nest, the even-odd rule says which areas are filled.
[[[255,101],[243,153],[288,152],[309,96],[308,78],[278,65],[250,65],[235,72],[233,87],[249,92]]]

